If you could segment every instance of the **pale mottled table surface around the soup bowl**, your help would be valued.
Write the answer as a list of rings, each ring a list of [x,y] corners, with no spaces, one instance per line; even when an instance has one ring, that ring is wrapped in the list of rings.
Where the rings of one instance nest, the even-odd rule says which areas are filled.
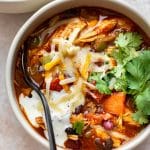
[[[125,0],[149,20],[150,0]],[[5,89],[5,64],[10,44],[28,14],[0,14],[0,150],[46,150],[22,128],[10,107]],[[150,136],[135,150],[150,150]]]

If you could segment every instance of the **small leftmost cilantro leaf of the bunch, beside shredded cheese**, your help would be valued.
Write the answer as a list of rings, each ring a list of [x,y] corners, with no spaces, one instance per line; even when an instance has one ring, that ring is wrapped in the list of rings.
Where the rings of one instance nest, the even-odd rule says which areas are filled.
[[[111,94],[111,90],[109,89],[108,86],[109,82],[101,79],[101,73],[93,72],[89,76],[88,81],[93,81],[93,80],[96,81],[96,88],[100,93]]]

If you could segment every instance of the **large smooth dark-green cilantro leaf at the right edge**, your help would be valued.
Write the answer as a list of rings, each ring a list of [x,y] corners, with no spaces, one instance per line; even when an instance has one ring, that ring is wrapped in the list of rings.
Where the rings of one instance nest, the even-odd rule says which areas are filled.
[[[144,51],[126,64],[126,77],[130,89],[141,91],[146,81],[150,79],[149,63],[150,51]]]

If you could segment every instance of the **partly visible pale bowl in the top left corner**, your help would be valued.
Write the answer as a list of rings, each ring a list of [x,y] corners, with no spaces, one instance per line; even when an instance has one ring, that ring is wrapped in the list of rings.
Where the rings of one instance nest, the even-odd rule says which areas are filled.
[[[0,0],[0,13],[25,13],[35,11],[52,0]]]

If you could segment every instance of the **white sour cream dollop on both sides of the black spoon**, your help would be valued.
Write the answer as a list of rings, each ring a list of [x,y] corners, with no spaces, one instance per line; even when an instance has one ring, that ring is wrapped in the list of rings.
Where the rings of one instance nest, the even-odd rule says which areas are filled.
[[[49,88],[49,83],[51,82],[51,76],[46,78],[46,87]],[[51,117],[53,121],[53,129],[56,138],[56,143],[59,146],[64,146],[64,142],[67,140],[67,135],[65,133],[65,129],[70,127],[70,116],[75,108],[79,105],[83,105],[85,102],[84,95],[82,94],[82,84],[83,81],[81,79],[78,80],[77,84],[71,87],[71,94],[66,93],[64,90],[57,91],[49,91],[49,99],[48,102],[54,104],[51,107],[50,111]],[[28,117],[30,123],[38,128],[39,125],[36,123],[36,117],[45,117],[43,112],[38,109],[40,99],[35,91],[32,91],[32,97],[29,98],[24,96],[23,94],[19,97],[19,102],[21,107],[24,109],[26,116]],[[70,96],[71,95],[71,96]],[[62,98],[65,98],[63,101]],[[42,105],[42,104],[41,104]],[[46,123],[45,123],[46,124]],[[45,131],[45,135],[47,131]]]

